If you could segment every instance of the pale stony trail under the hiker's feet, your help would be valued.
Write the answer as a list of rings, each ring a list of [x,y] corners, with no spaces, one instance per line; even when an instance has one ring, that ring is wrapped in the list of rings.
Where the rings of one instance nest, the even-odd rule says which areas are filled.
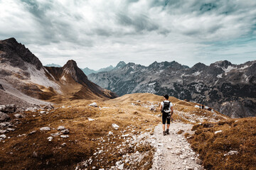
[[[150,140],[156,148],[154,154],[152,170],[176,170],[176,169],[193,169],[201,170],[203,167],[198,164],[200,159],[193,152],[189,143],[184,137],[184,133],[191,133],[193,125],[184,123],[171,123],[170,135],[163,135],[162,125],[159,124],[154,130],[154,135],[151,135]],[[182,134],[177,134],[183,130]]]

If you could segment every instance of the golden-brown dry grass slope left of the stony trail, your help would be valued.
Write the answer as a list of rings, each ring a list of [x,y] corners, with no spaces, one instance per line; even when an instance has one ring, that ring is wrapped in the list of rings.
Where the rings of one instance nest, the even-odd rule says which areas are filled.
[[[162,96],[154,94],[129,94],[109,101],[95,100],[100,108],[93,108],[88,106],[94,102],[92,100],[71,101],[70,98],[63,97],[61,100],[56,98],[57,109],[49,111],[48,114],[40,114],[39,111],[22,113],[25,118],[19,119],[21,123],[17,122],[16,130],[6,134],[11,138],[6,139],[4,143],[0,142],[0,169],[75,169],[76,164],[90,157],[93,161],[87,168],[92,169],[92,166],[95,166],[96,169],[100,169],[111,167],[122,159],[124,154],[136,151],[146,154],[146,157],[138,164],[125,164],[124,168],[133,166],[133,169],[142,169],[142,164],[148,162],[143,169],[150,169],[151,159],[154,157],[154,148],[150,145],[142,145],[136,149],[123,147],[122,152],[118,146],[126,140],[122,137],[124,130],[131,135],[139,135],[143,132],[152,132],[154,127],[161,123],[161,118],[157,117],[160,114],[158,108],[156,111],[149,111],[149,107],[146,106],[154,104],[159,107],[162,99]],[[140,102],[137,102],[138,100]],[[170,101],[175,104],[174,121],[188,123],[187,120],[180,118],[176,111],[203,114],[189,103],[178,104],[180,100],[172,97]],[[61,108],[63,105],[65,108]],[[87,118],[95,121],[89,121]],[[120,128],[114,130],[112,123],[119,125]],[[59,125],[64,125],[70,130],[70,137],[67,139],[60,136],[53,137],[49,142],[47,137],[50,137],[51,133],[58,132],[56,129]],[[49,126],[51,130],[40,131],[39,128],[44,126]],[[28,135],[33,130],[36,130],[36,133]],[[109,131],[114,135],[107,137]],[[22,134],[26,135],[18,137]],[[107,142],[103,142],[104,140]],[[67,144],[65,147],[61,146],[64,142]],[[99,150],[97,148],[102,147],[107,151],[97,155],[96,158],[93,154]]]

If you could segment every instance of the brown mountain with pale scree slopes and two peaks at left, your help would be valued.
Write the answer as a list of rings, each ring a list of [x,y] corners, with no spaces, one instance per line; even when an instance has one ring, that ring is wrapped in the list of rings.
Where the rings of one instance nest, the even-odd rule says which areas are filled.
[[[60,102],[115,97],[111,91],[89,81],[75,61],[70,60],[63,67],[43,67],[14,38],[0,41],[0,84],[1,94],[6,98],[20,98],[28,103],[38,103],[37,99]],[[0,101],[6,102],[6,98]]]

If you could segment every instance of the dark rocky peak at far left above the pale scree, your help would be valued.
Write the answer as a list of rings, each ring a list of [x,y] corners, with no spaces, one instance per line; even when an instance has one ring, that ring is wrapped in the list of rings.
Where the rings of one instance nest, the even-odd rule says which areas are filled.
[[[1,40],[0,51],[4,52],[1,53],[1,57],[3,58],[1,63],[8,62],[13,67],[19,67],[23,70],[28,69],[26,63],[33,64],[38,70],[43,67],[43,64],[40,62],[38,57],[33,55],[25,45],[18,43],[15,38]]]

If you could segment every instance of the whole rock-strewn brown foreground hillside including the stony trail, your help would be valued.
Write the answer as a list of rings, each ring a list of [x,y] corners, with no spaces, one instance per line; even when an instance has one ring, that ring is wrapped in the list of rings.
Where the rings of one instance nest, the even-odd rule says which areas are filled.
[[[256,167],[255,164],[248,166],[255,159],[255,152],[250,151],[255,141],[255,135],[251,133],[251,128],[255,127],[252,123],[254,118],[250,121],[248,118],[231,120],[216,111],[196,108],[197,103],[171,97],[170,101],[174,103],[174,122],[171,123],[171,135],[162,136],[161,126],[156,127],[159,123],[161,125],[157,110],[161,99],[161,96],[154,94],[129,94],[108,101],[74,100],[55,105],[55,108],[31,108],[19,112],[22,118],[15,118],[16,113],[9,113],[12,119],[9,123],[13,125],[1,126],[1,130],[11,126],[14,131],[9,129],[4,132],[6,137],[1,136],[1,167],[163,169],[166,166],[163,160],[169,160],[165,159],[166,154],[176,160],[168,161],[168,169],[191,166],[203,169],[201,164],[206,169]],[[92,102],[96,102],[97,107],[89,106]],[[196,133],[191,131],[192,125],[195,125],[192,130],[196,130]],[[240,128],[243,131],[238,138]],[[223,132],[214,134],[218,130]],[[206,136],[203,137],[203,134]],[[236,138],[229,140],[232,137]],[[200,159],[191,151],[186,139],[191,142]],[[237,144],[240,142],[242,146],[238,149]],[[227,154],[233,149],[238,151],[239,157],[250,157],[250,160],[237,164],[237,159],[231,159],[237,157],[235,155],[228,156],[228,165],[225,162],[217,164],[212,160],[214,153],[221,151]],[[161,154],[164,152],[169,154]],[[223,154],[218,158],[224,157]]]

